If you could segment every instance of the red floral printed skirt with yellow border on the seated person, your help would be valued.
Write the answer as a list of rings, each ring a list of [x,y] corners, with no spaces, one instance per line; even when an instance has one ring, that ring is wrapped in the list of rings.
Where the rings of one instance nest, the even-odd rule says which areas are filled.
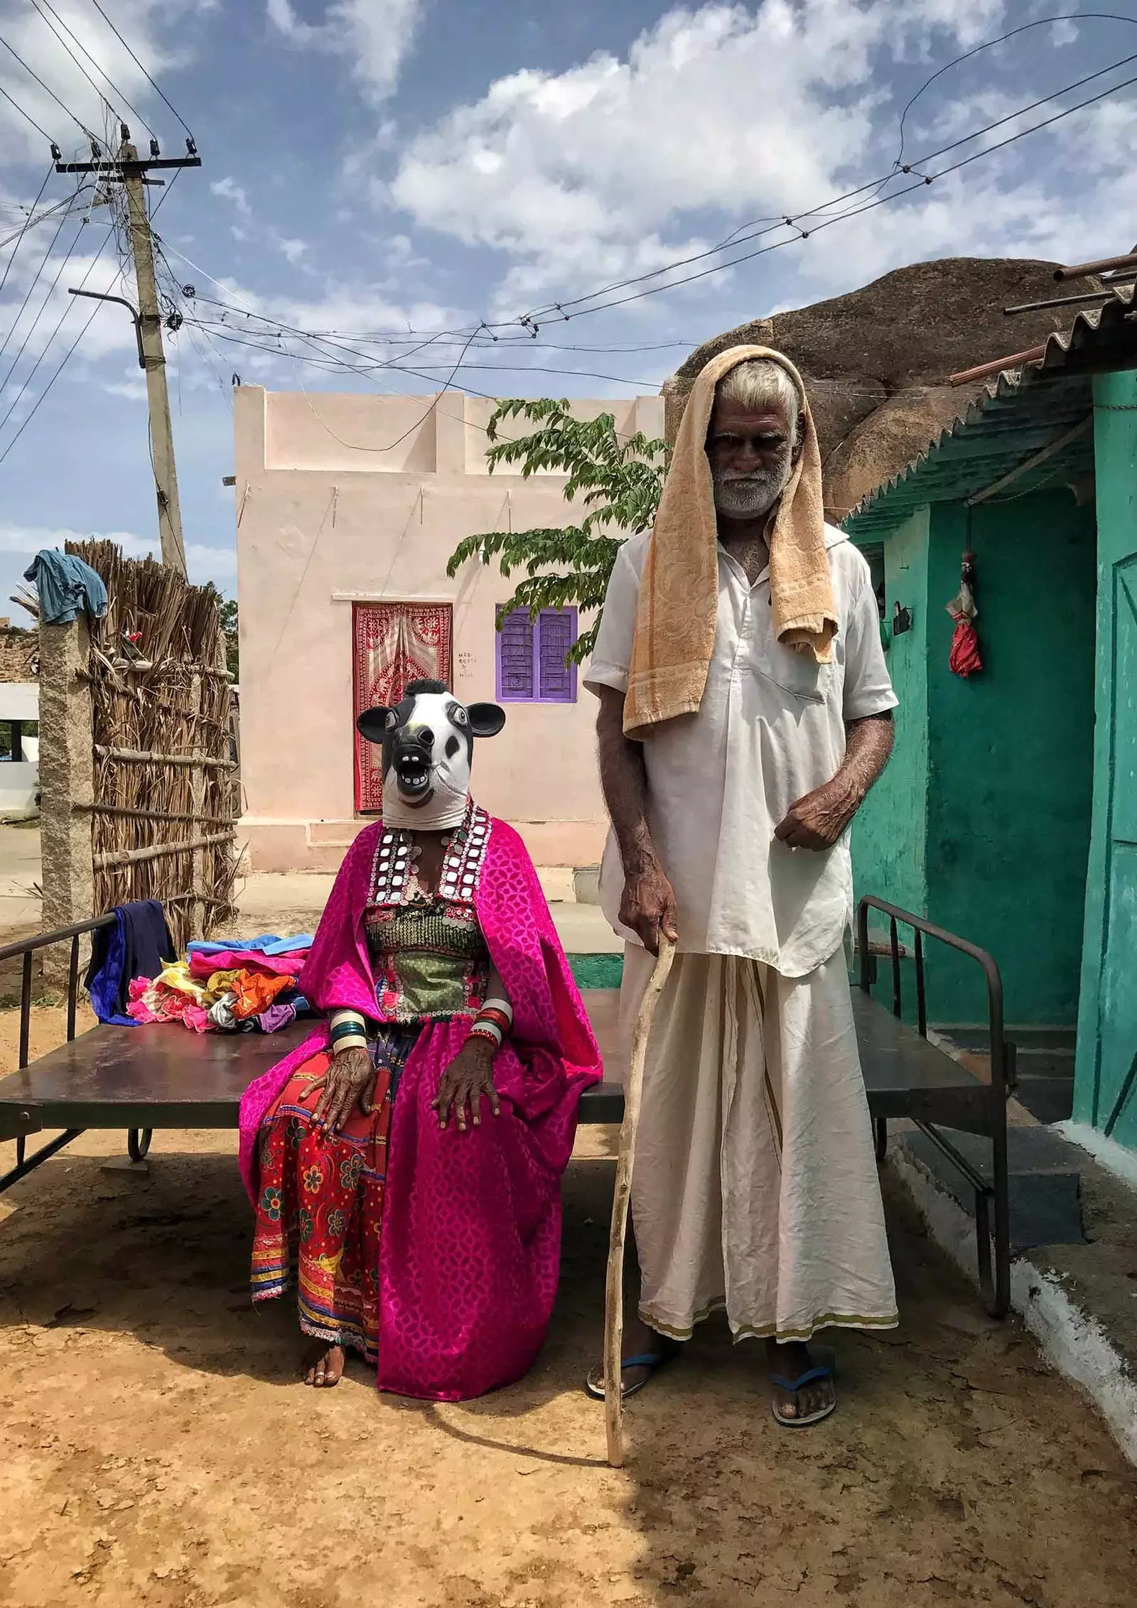
[[[261,1129],[261,1193],[252,1240],[252,1299],[294,1283],[301,1330],[380,1357],[380,1233],[391,1111],[418,1028],[388,1029],[370,1045],[378,1073],[370,1116],[359,1106],[338,1134],[312,1127],[331,1056],[293,1073]]]

